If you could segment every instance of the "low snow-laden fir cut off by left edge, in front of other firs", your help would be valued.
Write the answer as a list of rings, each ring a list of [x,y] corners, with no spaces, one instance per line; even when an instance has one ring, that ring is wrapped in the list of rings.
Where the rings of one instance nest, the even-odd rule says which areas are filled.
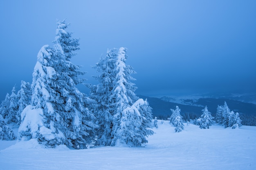
[[[2,115],[0,115],[0,140],[14,140],[16,136],[13,130],[4,122]]]

